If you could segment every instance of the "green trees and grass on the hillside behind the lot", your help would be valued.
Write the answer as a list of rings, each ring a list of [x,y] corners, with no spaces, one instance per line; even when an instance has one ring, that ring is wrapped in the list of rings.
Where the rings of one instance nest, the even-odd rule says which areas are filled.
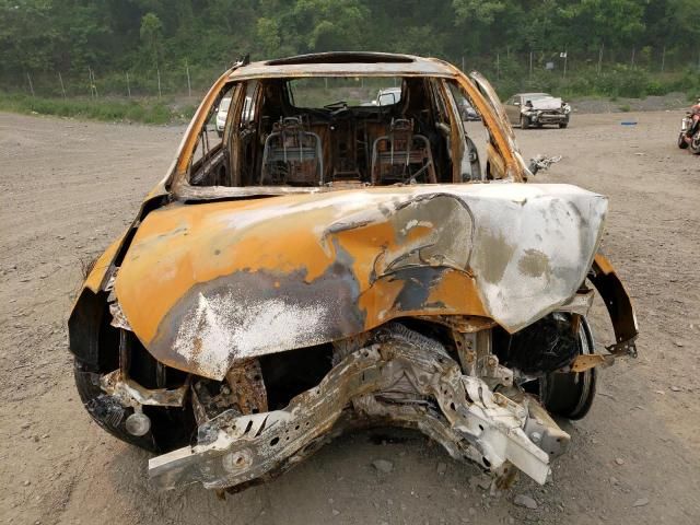
[[[128,72],[132,94],[153,95],[158,68],[175,94],[187,63],[200,94],[246,54],[364,49],[464,59],[502,96],[697,94],[699,13],[700,0],[0,0],[0,86],[27,93],[31,77],[56,96],[60,72],[88,95],[91,68],[101,94],[126,95]]]

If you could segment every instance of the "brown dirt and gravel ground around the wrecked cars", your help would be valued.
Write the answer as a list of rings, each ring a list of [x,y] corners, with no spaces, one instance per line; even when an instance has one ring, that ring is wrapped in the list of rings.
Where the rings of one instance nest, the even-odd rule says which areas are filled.
[[[490,495],[475,467],[422,435],[375,430],[219,501],[199,487],[152,488],[148,454],[90,420],[67,350],[80,261],[130,222],[184,128],[0,114],[0,523],[700,523],[700,158],[676,148],[681,115],[576,115],[567,130],[516,130],[526,158],[563,155],[536,180],[610,197],[604,249],[641,326],[639,359],[603,371],[588,417],[562,423],[572,444],[551,483],[523,476]],[[593,320],[609,343],[599,304]],[[516,506],[517,494],[537,509]]]

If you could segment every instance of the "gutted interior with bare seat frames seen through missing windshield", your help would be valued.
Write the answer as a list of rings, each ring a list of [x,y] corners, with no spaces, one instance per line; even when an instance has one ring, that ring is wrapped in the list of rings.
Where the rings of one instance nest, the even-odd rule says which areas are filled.
[[[231,97],[235,102],[223,140],[212,143],[215,141],[202,129],[200,161],[190,168],[189,184],[435,184],[454,182],[454,171],[459,171],[459,182],[481,179],[478,151],[456,113],[453,93],[459,96],[459,90],[455,82],[368,78],[376,85],[397,86],[396,94],[382,104],[353,105],[332,94],[325,101],[308,96],[324,85],[363,81],[273,78],[229,86],[219,96],[219,101]],[[457,149],[453,161],[451,138],[455,135],[466,151]],[[459,164],[463,155],[468,159],[464,166]]]

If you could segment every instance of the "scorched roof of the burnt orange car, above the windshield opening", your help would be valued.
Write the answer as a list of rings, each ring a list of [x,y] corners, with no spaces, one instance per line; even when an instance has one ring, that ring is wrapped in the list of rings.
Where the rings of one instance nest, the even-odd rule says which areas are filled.
[[[436,58],[390,52],[332,51],[249,62],[236,68],[230,79],[351,75],[454,77],[455,69]]]

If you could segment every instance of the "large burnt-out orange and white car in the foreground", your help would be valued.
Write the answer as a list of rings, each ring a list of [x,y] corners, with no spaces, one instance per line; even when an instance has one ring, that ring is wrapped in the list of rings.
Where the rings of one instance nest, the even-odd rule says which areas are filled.
[[[338,100],[362,78],[400,96]],[[585,416],[597,366],[635,355],[638,330],[598,253],[607,199],[528,177],[478,73],[370,52],[236,62],[82,287],[85,408],[158,454],[163,488],[241,490],[368,425],[420,430],[501,486],[544,483],[569,442],[552,416]]]

